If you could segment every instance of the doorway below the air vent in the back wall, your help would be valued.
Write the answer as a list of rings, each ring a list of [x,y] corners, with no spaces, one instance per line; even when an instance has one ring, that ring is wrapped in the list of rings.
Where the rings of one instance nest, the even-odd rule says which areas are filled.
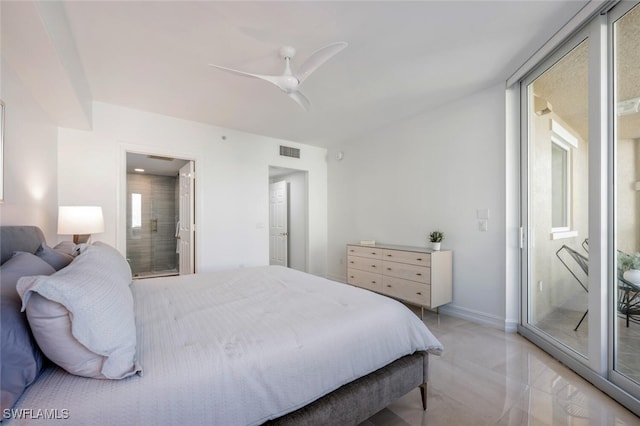
[[[308,265],[308,172],[269,167],[269,264]],[[284,235],[282,235],[284,234]]]

